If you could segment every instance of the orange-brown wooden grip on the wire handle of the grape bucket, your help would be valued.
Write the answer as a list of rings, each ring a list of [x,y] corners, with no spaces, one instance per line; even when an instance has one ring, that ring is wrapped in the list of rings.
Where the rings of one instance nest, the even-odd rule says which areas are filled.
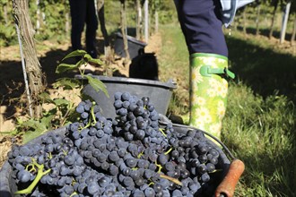
[[[227,175],[222,180],[222,183],[218,185],[215,197],[232,197],[235,186],[239,182],[239,177],[245,170],[245,164],[239,160],[234,159],[231,162],[231,166],[229,168],[229,171]]]

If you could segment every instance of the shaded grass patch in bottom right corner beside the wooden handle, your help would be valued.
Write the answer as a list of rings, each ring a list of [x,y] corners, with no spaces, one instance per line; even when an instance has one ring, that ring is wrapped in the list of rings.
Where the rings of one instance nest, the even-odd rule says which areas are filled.
[[[295,196],[295,161],[291,159],[296,156],[294,151],[286,150],[276,157],[268,157],[265,152],[239,156],[246,165],[244,183],[250,188],[261,185],[266,195]]]

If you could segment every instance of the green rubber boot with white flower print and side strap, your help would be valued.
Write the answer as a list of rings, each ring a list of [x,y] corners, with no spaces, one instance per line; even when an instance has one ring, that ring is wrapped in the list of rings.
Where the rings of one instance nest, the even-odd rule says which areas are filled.
[[[228,82],[234,78],[228,70],[228,58],[196,53],[190,56],[190,120],[189,125],[221,139]]]

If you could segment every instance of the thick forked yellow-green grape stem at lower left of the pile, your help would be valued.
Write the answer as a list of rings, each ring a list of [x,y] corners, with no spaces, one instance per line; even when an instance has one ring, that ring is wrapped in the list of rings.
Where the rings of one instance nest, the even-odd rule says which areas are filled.
[[[46,171],[43,171],[44,165],[43,164],[39,165],[36,162],[35,159],[33,159],[32,165],[34,165],[34,166],[36,166],[38,168],[37,176],[35,177],[34,181],[26,189],[19,190],[19,191],[15,192],[14,194],[28,194],[28,193],[32,193],[33,189],[39,183],[39,181],[42,178],[42,176],[47,175],[51,171],[51,169],[48,169]]]

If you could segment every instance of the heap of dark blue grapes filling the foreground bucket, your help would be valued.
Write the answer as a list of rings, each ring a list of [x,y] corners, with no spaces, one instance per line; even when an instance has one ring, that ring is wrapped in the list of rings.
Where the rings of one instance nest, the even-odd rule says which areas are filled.
[[[18,194],[30,196],[207,196],[221,171],[218,148],[203,133],[159,124],[148,97],[114,95],[117,117],[82,101],[65,134],[8,153]],[[111,110],[111,109],[110,109]],[[32,193],[30,193],[32,192]],[[28,194],[30,193],[30,194]]]

